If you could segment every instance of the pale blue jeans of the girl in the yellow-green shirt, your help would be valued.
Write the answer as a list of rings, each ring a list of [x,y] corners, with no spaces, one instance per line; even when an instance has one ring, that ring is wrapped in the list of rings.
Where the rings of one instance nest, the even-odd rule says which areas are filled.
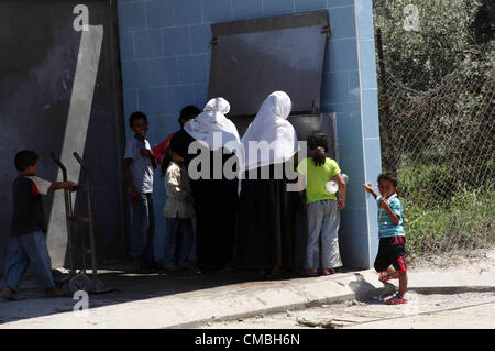
[[[315,201],[307,205],[308,242],[305,268],[342,266],[339,251],[340,212],[336,200]],[[320,255],[321,242],[321,255]]]

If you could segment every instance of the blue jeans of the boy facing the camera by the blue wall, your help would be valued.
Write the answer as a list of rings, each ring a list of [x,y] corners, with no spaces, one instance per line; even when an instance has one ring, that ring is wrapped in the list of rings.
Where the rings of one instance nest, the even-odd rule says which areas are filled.
[[[138,201],[131,201],[131,252],[132,257],[154,260],[153,238],[155,233],[155,212],[151,193],[140,194]]]

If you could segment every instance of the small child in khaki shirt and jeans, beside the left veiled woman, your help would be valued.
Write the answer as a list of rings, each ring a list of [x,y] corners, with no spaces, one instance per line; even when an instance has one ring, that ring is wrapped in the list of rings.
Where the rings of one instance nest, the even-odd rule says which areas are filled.
[[[191,218],[195,217],[195,209],[184,158],[173,151],[172,145],[165,154],[162,163],[167,190],[167,202],[164,208],[167,218],[164,261],[166,270],[176,271],[187,266],[193,245]]]

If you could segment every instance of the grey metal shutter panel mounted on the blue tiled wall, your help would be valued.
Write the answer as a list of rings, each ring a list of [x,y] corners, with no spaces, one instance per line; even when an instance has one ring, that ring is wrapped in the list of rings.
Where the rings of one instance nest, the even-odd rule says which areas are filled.
[[[286,91],[293,113],[318,113],[326,11],[211,25],[209,97],[231,103],[230,116],[254,116],[273,91]]]

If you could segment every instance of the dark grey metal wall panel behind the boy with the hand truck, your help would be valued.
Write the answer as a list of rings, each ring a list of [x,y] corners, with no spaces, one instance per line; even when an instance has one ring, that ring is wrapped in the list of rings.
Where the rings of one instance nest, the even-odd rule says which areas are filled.
[[[3,204],[0,208],[0,266],[3,266],[12,216],[15,153],[23,149],[37,151],[41,155],[38,175],[55,180],[58,168],[50,152],[61,156],[68,133],[86,135],[84,144],[76,138],[72,140],[74,145],[66,142],[65,149],[80,147],[94,169],[98,255],[124,255],[127,220],[122,211],[123,125],[120,125],[123,119],[116,3],[84,2],[89,10],[89,24],[101,25],[103,32],[101,55],[92,57],[98,59],[98,74],[91,98],[78,97],[74,88],[82,33],[73,26],[78,17],[73,11],[78,3],[70,0],[0,1],[0,179],[3,184],[3,191],[0,191]],[[82,73],[81,76],[86,75]],[[90,106],[89,123],[86,127],[82,123],[76,131],[66,130],[72,101]],[[77,113],[75,116],[77,118]],[[67,167],[77,167],[74,157],[62,161]],[[47,219],[57,222],[51,222],[50,227],[65,228],[63,207],[53,208],[54,202],[54,195],[44,197]],[[76,207],[77,204],[78,198]],[[64,235],[65,231],[47,233],[54,266],[61,266],[64,260],[65,244],[61,243]]]

